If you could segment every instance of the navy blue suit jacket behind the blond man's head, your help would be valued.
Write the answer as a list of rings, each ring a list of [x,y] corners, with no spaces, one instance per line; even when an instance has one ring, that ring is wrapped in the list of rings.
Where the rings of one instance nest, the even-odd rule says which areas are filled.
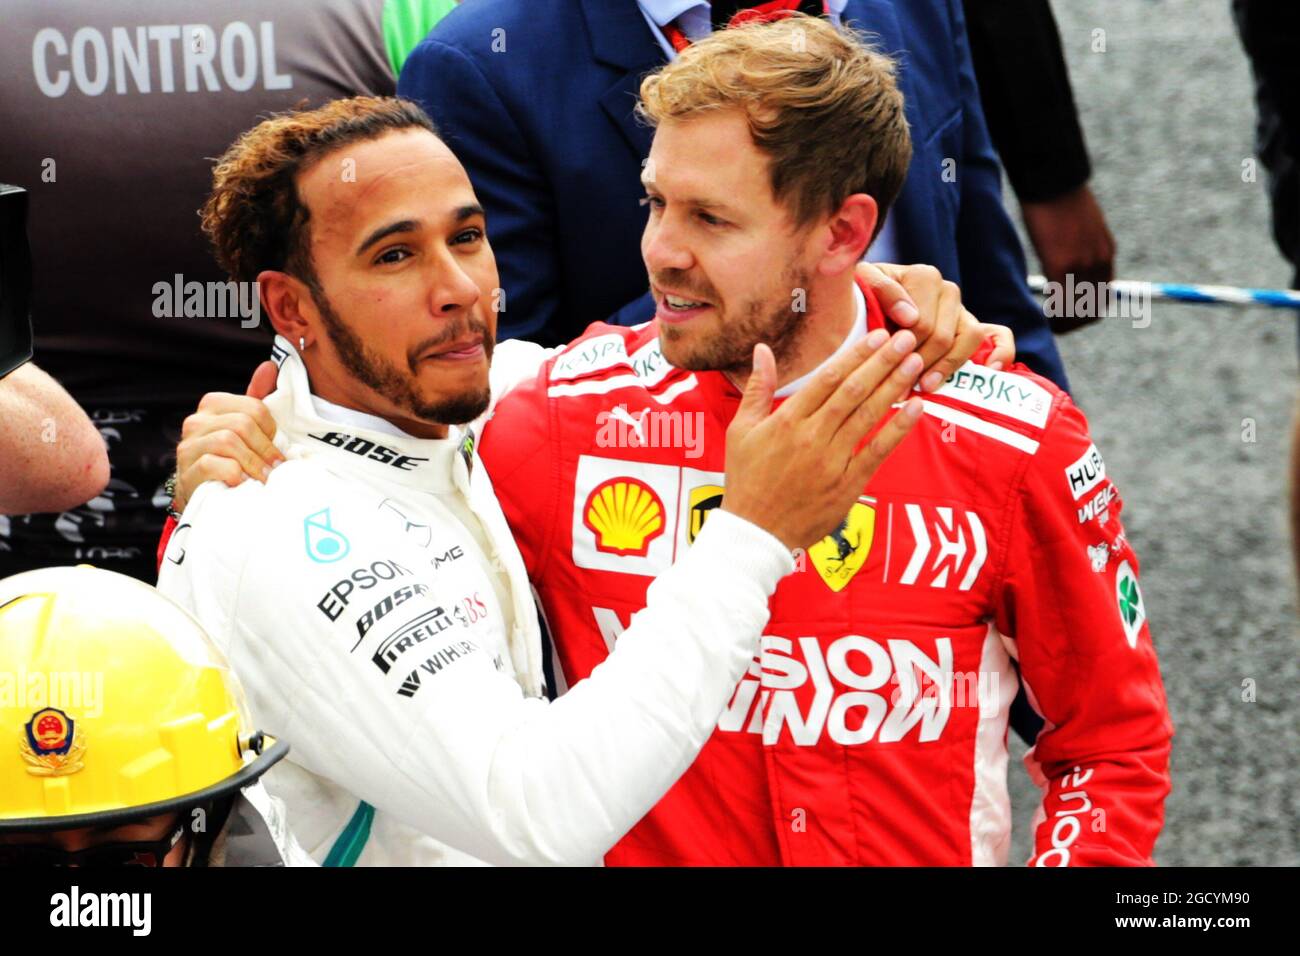
[[[1020,359],[1065,388],[1002,208],[959,0],[850,0],[844,18],[900,60],[913,161],[889,213],[898,258],[961,284],[967,308],[1011,326]],[[433,117],[488,211],[503,337],[555,345],[653,313],[638,202],[651,130],[632,108],[663,61],[634,0],[472,0],[406,61],[398,92]]]

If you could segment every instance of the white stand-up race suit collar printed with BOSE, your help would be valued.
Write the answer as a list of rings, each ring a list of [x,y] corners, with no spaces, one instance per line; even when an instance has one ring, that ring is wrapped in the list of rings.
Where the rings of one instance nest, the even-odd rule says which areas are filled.
[[[328,458],[335,467],[377,480],[434,494],[459,490],[469,497],[472,432],[448,428],[446,438],[412,437],[384,419],[313,397],[307,367],[280,336],[272,359],[280,365],[280,377],[266,407],[278,427],[276,447],[286,458]]]

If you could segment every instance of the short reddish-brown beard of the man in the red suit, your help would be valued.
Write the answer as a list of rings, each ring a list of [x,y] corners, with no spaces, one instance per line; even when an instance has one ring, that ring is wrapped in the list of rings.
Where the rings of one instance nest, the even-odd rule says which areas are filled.
[[[685,284],[672,281],[671,271],[660,273],[663,282],[673,289],[682,289]],[[711,336],[699,337],[696,333],[675,328],[672,325],[659,325],[659,339],[662,342],[663,356],[668,364],[688,372],[725,372],[732,376],[749,375],[754,362],[754,346],[766,342],[776,356],[777,367],[783,360],[789,360],[794,354],[800,333],[803,329],[803,319],[811,310],[807,300],[809,269],[794,265],[788,267],[783,273],[777,287],[786,291],[771,300],[753,299],[744,304],[738,315],[720,315],[718,329]],[[794,289],[805,290],[803,308],[794,310]],[[707,302],[716,302],[714,295],[702,295]],[[699,339],[699,341],[694,341]]]

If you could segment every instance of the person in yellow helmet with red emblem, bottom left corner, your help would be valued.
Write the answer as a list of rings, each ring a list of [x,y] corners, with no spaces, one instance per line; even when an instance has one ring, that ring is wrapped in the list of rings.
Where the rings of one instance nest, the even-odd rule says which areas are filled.
[[[0,580],[0,868],[309,866],[194,618],[94,567]]]

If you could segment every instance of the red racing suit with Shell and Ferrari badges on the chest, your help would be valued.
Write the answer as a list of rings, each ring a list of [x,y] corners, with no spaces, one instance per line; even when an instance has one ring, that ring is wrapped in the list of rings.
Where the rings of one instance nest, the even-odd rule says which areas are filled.
[[[497,406],[482,459],[569,685],[722,501],[738,402],[668,365],[650,323],[590,326]],[[1173,726],[1087,421],[1019,364],[967,363],[924,403],[797,555],[712,737],[607,864],[1005,862],[1018,680],[1045,718],[1031,864],[1150,864]]]

